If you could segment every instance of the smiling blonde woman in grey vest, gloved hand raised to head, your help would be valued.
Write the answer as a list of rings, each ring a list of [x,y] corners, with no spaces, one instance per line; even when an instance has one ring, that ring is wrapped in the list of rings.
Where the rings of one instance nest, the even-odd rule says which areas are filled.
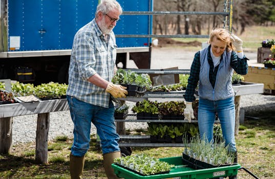
[[[192,101],[195,88],[199,84],[198,123],[201,139],[213,142],[215,116],[221,122],[225,144],[230,152],[236,153],[235,103],[231,78],[234,71],[245,75],[248,72],[247,58],[243,54],[242,40],[225,29],[214,29],[209,38],[209,46],[195,54],[185,93],[185,119],[194,119]],[[237,178],[231,176],[229,178]]]

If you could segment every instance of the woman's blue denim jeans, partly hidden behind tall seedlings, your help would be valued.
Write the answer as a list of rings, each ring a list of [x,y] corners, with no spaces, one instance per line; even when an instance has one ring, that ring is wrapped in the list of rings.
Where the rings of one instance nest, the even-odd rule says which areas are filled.
[[[225,140],[225,145],[229,145],[229,151],[235,152],[235,103],[234,97],[210,101],[207,99],[199,99],[198,108],[198,123],[200,137],[206,138],[208,142],[213,139],[213,127],[216,113],[218,114],[221,122],[222,135]],[[205,136],[204,136],[205,135]]]

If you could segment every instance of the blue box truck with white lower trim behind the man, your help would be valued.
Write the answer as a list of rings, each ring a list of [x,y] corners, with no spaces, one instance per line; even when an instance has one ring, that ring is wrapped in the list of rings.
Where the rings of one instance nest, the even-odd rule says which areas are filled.
[[[0,0],[0,79],[66,83],[75,33],[94,18],[100,1]],[[118,0],[123,11],[153,11],[153,0]],[[114,29],[122,68],[132,59],[150,69],[152,15],[125,15]]]

